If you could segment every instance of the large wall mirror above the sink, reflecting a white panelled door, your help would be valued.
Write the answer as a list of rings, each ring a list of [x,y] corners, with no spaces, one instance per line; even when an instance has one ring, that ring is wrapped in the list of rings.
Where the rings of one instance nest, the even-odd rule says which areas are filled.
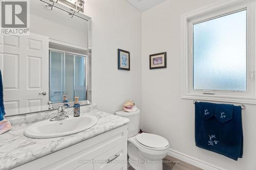
[[[62,1],[30,1],[30,34],[1,35],[6,116],[91,102],[91,18]]]

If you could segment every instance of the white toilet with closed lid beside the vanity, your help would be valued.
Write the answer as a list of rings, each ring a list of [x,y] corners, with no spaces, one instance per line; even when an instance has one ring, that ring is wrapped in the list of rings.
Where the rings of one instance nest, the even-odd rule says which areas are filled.
[[[135,170],[162,170],[162,159],[167,155],[169,142],[162,136],[139,132],[140,110],[118,111],[116,115],[129,118],[128,156]]]

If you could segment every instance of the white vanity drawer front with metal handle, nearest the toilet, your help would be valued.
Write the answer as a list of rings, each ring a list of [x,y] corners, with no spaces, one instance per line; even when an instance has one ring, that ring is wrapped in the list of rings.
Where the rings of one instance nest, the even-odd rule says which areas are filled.
[[[112,150],[94,159],[94,170],[109,170],[117,164],[123,164],[127,156],[127,142],[121,143]]]

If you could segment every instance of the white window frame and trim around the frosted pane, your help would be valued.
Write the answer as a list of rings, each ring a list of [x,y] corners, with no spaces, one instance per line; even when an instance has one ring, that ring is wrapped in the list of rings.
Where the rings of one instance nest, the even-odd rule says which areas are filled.
[[[255,86],[255,1],[221,1],[182,16],[181,98],[256,104]],[[198,90],[193,88],[193,26],[195,23],[247,10],[247,90]],[[252,48],[251,48],[252,47]]]

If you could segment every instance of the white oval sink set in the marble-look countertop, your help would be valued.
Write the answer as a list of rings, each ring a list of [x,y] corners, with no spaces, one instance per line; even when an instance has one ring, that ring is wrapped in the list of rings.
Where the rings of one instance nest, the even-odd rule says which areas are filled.
[[[53,138],[71,135],[87,130],[96,125],[98,119],[91,115],[82,115],[50,122],[49,119],[31,125],[24,131],[24,135],[31,138]]]

